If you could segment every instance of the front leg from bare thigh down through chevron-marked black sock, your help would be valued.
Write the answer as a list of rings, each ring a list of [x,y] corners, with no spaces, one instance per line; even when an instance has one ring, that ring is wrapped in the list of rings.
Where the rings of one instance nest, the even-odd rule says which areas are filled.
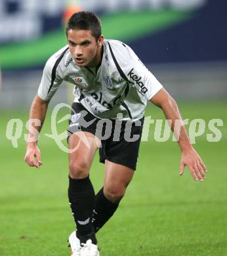
[[[79,134],[85,136],[81,139]],[[86,142],[85,142],[86,140]],[[69,188],[68,197],[72,214],[77,226],[77,237],[81,243],[91,239],[96,244],[94,226],[92,223],[95,194],[93,184],[89,179],[89,170],[96,152],[96,140],[92,133],[73,133],[68,140],[69,153]]]

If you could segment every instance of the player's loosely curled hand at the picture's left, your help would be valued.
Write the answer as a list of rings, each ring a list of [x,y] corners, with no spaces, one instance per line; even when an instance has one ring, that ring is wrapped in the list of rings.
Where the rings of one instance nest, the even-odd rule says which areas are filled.
[[[24,161],[26,161],[30,167],[35,166],[39,168],[43,164],[39,148],[33,144],[28,144]]]

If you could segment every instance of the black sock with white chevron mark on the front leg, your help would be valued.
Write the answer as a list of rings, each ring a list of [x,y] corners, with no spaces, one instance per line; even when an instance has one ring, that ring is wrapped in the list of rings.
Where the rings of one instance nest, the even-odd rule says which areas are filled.
[[[77,226],[77,237],[81,243],[86,243],[88,239],[91,239],[93,244],[97,244],[92,223],[95,205],[93,184],[91,184],[89,177],[85,179],[69,177],[69,179],[68,198]]]

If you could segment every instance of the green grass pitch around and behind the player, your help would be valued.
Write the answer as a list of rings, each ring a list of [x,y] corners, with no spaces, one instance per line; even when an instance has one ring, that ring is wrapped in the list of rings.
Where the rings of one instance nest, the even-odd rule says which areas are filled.
[[[101,256],[227,255],[227,128],[224,101],[182,102],[184,118],[220,118],[220,142],[196,139],[195,148],[209,172],[195,182],[188,169],[180,177],[180,150],[176,142],[142,142],[137,170],[119,209],[98,236]],[[146,116],[163,118],[149,104]],[[70,255],[66,240],[74,228],[68,205],[68,156],[55,142],[47,116],[39,147],[41,169],[24,163],[25,142],[13,148],[5,130],[11,118],[28,119],[28,111],[0,113],[0,255]],[[67,122],[60,125],[60,131]],[[23,129],[22,135],[26,129]],[[96,191],[102,186],[104,165],[96,157],[91,179]]]

